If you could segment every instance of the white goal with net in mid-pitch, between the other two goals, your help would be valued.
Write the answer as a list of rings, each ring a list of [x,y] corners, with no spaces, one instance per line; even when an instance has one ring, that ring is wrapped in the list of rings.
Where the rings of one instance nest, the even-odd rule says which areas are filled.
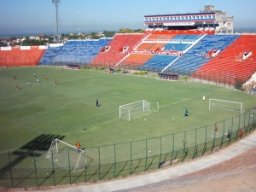
[[[140,117],[144,114],[157,112],[159,113],[158,102],[147,102],[145,100],[139,102],[131,102],[119,106],[119,118],[129,120]]]

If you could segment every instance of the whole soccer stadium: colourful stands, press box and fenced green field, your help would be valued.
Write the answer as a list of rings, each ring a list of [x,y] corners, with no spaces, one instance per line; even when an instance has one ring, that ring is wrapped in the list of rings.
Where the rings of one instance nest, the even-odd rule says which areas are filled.
[[[256,34],[234,32],[213,5],[144,15],[144,25],[1,47],[0,190],[147,177],[253,135]]]

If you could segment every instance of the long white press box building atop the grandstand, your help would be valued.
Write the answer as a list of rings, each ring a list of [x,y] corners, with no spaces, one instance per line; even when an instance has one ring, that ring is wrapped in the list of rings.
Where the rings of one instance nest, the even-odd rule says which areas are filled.
[[[205,5],[198,13],[172,15],[144,15],[144,25],[157,30],[215,30],[221,33],[234,32],[234,17],[227,12]]]

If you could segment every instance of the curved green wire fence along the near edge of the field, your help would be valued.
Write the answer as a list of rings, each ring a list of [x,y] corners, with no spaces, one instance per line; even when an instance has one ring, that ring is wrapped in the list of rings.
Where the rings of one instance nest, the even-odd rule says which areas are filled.
[[[218,132],[214,129],[215,125],[207,125],[163,137],[84,148],[85,155],[80,159],[73,157],[71,149],[63,150],[59,153],[64,153],[61,158],[67,166],[58,166],[54,163],[55,160],[47,160],[44,155],[48,151],[15,151],[0,154],[0,186],[5,189],[16,189],[91,183],[193,160],[235,143],[240,139],[241,130],[241,139],[247,137],[255,130],[256,111],[252,109],[218,122],[217,125]],[[230,138],[226,136],[229,129],[232,133]],[[42,137],[40,139],[42,140]],[[71,165],[74,160],[86,162],[83,166],[80,165],[79,172],[73,172],[75,167]]]

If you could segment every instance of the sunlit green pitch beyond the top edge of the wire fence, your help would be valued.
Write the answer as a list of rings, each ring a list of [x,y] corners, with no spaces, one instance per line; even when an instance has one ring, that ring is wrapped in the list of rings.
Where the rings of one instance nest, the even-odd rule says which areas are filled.
[[[49,79],[44,79],[45,76]],[[22,148],[42,134],[60,136],[63,142],[72,145],[80,142],[82,148],[153,140],[238,115],[209,110],[209,98],[243,102],[245,111],[256,102],[253,96],[215,84],[87,70],[61,71],[59,67],[3,68],[0,82],[1,153]],[[202,96],[206,96],[206,102],[202,102]],[[96,99],[101,104],[99,108]],[[120,105],[141,100],[159,102],[160,113],[153,112],[131,122],[119,119]],[[189,118],[184,118],[186,108]]]

